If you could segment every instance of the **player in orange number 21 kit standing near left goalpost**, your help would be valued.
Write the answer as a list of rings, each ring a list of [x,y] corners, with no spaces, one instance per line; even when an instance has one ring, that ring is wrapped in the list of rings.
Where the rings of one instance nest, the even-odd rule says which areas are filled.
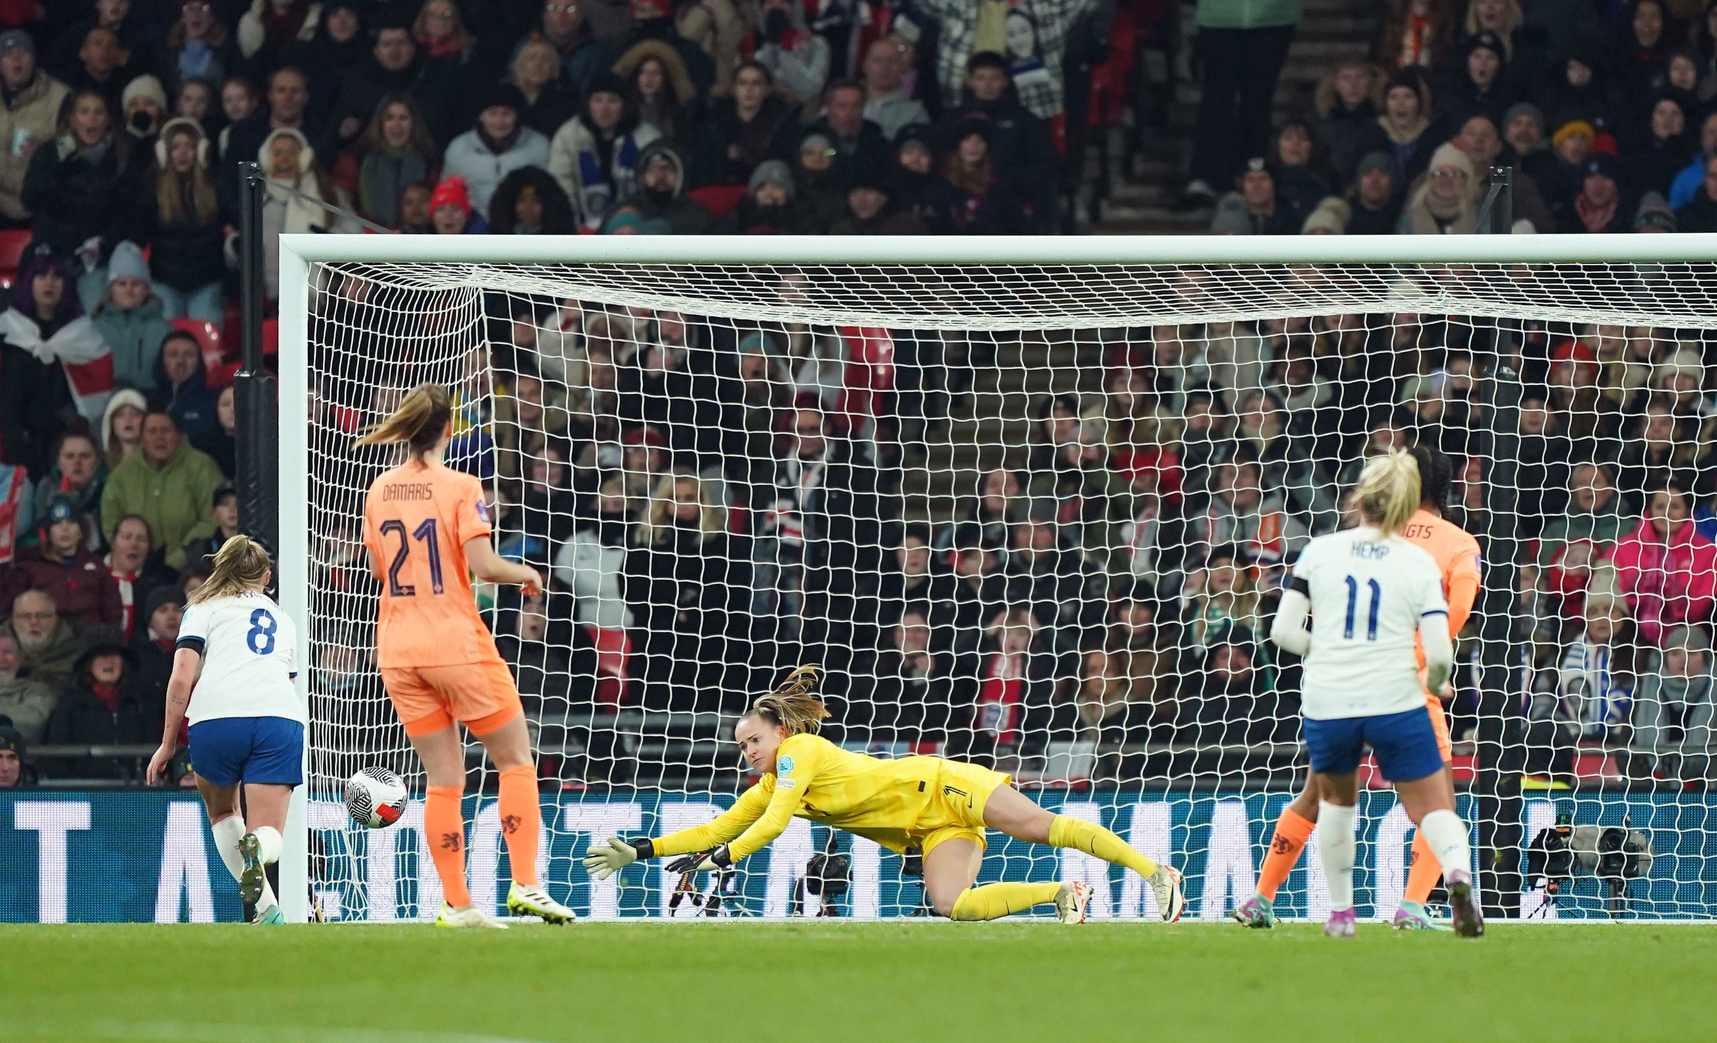
[[[570,923],[572,909],[551,899],[537,880],[543,808],[531,734],[513,676],[470,590],[472,573],[488,583],[517,583],[527,594],[543,580],[536,570],[494,554],[482,484],[441,463],[452,417],[446,388],[419,384],[391,417],[357,441],[410,448],[410,458],[376,479],[364,496],[364,546],[381,583],[381,681],[429,782],[424,837],[446,899],[436,926],[507,926],[472,904],[465,883],[465,748],[457,722],[477,736],[500,772],[501,834],[513,877],[507,909]]]

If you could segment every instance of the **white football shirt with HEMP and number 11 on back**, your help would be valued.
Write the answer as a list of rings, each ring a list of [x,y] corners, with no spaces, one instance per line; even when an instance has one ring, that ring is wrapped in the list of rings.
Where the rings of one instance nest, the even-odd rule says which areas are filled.
[[[1320,535],[1293,566],[1312,600],[1300,712],[1312,720],[1401,714],[1425,705],[1413,636],[1420,619],[1447,628],[1437,561],[1374,527]]]

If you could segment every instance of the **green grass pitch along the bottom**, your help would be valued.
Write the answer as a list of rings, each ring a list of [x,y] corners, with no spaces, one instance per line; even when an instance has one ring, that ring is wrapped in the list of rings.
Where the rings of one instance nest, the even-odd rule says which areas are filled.
[[[1712,926],[100,925],[0,954],[21,1043],[1717,1038]]]

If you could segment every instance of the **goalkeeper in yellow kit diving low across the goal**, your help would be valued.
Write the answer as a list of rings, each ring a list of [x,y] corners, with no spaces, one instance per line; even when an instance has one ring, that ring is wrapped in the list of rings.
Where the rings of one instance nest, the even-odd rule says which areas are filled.
[[[895,853],[924,853],[924,894],[950,919],[998,919],[1054,902],[1063,923],[1083,923],[1090,887],[1070,883],[986,883],[972,887],[984,861],[984,830],[1020,841],[1078,847],[1145,878],[1164,921],[1180,919],[1185,897],[1174,866],[1157,865],[1101,825],[1054,815],[1013,789],[1001,772],[944,760],[879,760],[819,738],[829,712],[812,688],[817,667],[802,666],[761,696],[733,727],[745,760],[762,779],[719,817],[666,837],[591,844],[584,866],[606,880],[639,858],[680,859],[680,871],[719,870],[764,849],[798,815],[876,841]]]

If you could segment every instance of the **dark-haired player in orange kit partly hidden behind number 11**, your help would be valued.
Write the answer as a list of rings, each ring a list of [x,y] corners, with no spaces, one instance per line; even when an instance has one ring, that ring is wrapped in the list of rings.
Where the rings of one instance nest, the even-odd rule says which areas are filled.
[[[1459,525],[1442,516],[1442,501],[1449,491],[1453,468],[1449,460],[1427,446],[1413,449],[1422,475],[1422,499],[1418,513],[1413,515],[1401,535],[1425,547],[1442,571],[1442,592],[1449,600],[1449,635],[1459,636],[1466,626],[1466,618],[1473,611],[1478,597],[1478,540],[1463,532]],[[1425,648],[1418,645],[1418,667],[1423,674]],[[1442,698],[1425,693],[1425,708],[1430,710],[1430,724],[1437,733],[1437,748],[1442,751],[1442,777],[1451,801],[1454,794],[1454,777],[1449,763],[1454,760],[1449,748],[1449,720],[1442,712]],[[1269,854],[1259,871],[1259,890],[1250,899],[1236,906],[1229,916],[1247,926],[1269,928],[1276,925],[1276,890],[1300,861],[1312,830],[1317,827],[1317,781],[1307,775],[1305,787],[1276,820],[1276,834],[1271,837]],[[1442,877],[1442,866],[1432,856],[1423,834],[1413,837],[1413,865],[1408,870],[1406,889],[1401,894],[1401,907],[1396,909],[1394,926],[1399,930],[1449,930],[1432,919],[1425,909],[1425,899],[1435,890]]]

